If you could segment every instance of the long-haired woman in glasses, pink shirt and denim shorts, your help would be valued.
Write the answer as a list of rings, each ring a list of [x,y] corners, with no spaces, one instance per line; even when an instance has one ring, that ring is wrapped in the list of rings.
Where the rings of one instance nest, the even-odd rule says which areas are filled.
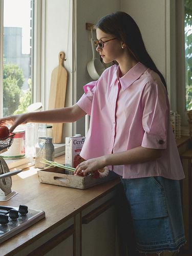
[[[179,180],[184,178],[172,127],[166,83],[148,55],[133,18],[116,12],[95,26],[101,77],[84,86],[70,108],[0,119],[10,132],[26,122],[73,122],[91,116],[75,174],[111,166],[131,210],[137,252],[157,255],[185,243]],[[152,254],[153,253],[153,254]]]

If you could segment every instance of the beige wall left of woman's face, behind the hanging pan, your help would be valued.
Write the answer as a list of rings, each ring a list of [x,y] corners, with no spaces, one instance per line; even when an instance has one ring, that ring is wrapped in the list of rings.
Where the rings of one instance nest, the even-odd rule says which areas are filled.
[[[84,84],[92,81],[87,71],[87,63],[92,59],[90,32],[86,30],[86,23],[96,24],[98,20],[110,12],[120,11],[118,0],[75,0],[76,3],[76,79],[77,93],[74,96],[74,103],[83,94]],[[75,130],[76,129],[76,130]],[[84,134],[84,118],[77,122],[74,133]]]

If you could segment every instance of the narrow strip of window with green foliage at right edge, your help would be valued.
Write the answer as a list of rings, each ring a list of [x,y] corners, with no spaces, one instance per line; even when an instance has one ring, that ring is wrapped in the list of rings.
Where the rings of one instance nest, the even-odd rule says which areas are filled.
[[[192,2],[185,0],[185,107],[192,110]]]

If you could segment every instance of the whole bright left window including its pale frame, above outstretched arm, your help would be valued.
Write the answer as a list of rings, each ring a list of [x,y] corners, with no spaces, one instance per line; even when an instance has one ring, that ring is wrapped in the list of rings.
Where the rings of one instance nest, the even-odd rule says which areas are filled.
[[[0,0],[0,116],[41,101],[45,1]],[[42,36],[40,36],[42,35]]]

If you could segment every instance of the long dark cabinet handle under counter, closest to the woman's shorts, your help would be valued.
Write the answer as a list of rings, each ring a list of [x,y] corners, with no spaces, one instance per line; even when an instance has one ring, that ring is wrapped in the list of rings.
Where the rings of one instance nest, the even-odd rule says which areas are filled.
[[[99,207],[89,212],[89,214],[82,217],[82,224],[90,223],[92,220],[94,220],[100,214],[102,214],[105,210],[109,209],[112,205],[114,205],[114,199],[110,199],[105,203],[101,204]]]

